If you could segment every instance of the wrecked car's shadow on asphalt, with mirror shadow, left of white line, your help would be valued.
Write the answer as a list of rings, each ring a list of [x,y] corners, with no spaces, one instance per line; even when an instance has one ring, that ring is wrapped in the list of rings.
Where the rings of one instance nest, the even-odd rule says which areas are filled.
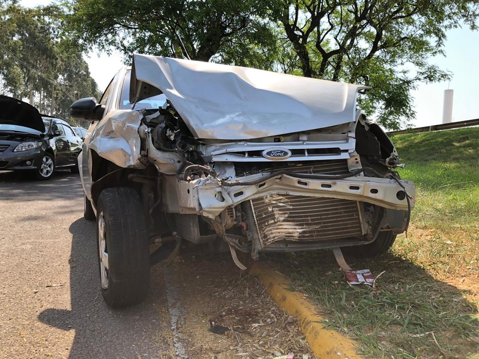
[[[75,330],[70,358],[169,358],[168,315],[163,275],[152,268],[147,300],[113,310],[103,301],[96,256],[96,224],[84,218],[70,226],[70,292],[72,310],[48,308],[42,323]],[[164,332],[164,333],[162,333]]]

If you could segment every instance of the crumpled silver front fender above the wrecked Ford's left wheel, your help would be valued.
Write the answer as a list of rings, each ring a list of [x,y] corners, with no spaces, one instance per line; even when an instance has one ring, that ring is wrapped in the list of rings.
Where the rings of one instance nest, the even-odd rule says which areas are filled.
[[[142,115],[136,111],[116,110],[95,127],[88,148],[123,168],[145,168],[140,162],[138,128]]]

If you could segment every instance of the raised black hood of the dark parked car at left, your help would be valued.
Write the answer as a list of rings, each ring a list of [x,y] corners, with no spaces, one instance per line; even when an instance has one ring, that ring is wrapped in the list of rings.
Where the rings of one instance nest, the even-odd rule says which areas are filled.
[[[0,95],[0,124],[23,126],[45,132],[45,125],[37,108],[3,95]]]

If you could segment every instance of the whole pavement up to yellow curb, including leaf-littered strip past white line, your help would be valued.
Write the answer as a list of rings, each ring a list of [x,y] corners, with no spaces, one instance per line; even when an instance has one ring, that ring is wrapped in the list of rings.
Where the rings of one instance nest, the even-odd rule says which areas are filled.
[[[186,248],[151,268],[144,303],[109,308],[95,230],[79,175],[0,171],[0,359],[313,358],[295,318],[229,253]],[[211,320],[230,330],[211,333]]]

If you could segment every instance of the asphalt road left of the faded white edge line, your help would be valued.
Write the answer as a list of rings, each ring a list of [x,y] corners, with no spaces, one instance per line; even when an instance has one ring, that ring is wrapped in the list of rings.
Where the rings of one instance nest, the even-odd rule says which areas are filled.
[[[79,175],[0,172],[0,358],[173,358],[161,268],[147,301],[103,302]]]

